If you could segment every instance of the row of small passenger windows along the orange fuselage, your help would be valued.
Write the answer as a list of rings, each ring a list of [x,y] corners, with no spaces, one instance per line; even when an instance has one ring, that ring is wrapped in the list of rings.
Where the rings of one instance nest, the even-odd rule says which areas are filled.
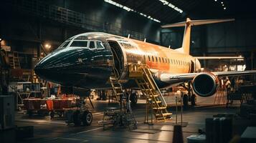
[[[144,55],[144,59],[146,59],[145,55]],[[148,61],[189,66],[188,61],[182,61],[182,60],[179,60],[179,59],[169,59],[169,58],[163,58],[163,57],[157,57],[157,56],[148,56]]]

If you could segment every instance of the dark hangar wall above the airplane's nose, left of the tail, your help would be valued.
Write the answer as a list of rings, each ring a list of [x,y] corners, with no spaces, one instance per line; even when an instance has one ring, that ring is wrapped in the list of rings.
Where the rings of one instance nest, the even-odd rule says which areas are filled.
[[[27,59],[22,63],[25,69],[34,66],[42,51],[49,52],[70,36],[87,31],[131,34],[152,43],[160,40],[160,24],[101,0],[4,0],[0,11],[1,45],[19,51],[20,59]],[[43,50],[45,43],[52,49]]]

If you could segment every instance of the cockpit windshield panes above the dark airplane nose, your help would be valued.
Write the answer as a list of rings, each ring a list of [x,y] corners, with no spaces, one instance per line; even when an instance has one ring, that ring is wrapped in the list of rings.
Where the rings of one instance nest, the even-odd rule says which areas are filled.
[[[70,44],[70,41],[65,41],[59,48],[65,48],[68,44]],[[70,47],[85,47],[90,49],[104,49],[103,42],[102,41],[87,41],[87,40],[74,40],[70,44]]]

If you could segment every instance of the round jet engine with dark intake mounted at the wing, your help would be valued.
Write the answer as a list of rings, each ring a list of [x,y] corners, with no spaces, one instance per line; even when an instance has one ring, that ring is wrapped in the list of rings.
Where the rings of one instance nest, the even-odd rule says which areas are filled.
[[[192,82],[194,92],[200,97],[210,97],[217,92],[219,79],[212,73],[196,75]]]

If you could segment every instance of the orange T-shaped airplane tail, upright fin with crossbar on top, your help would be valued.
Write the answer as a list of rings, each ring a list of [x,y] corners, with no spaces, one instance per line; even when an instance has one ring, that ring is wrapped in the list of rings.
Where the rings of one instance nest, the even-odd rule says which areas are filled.
[[[181,48],[177,49],[178,51],[182,51],[184,54],[189,54],[190,51],[190,34],[191,34],[191,26],[202,25],[202,24],[215,24],[226,21],[234,21],[234,19],[207,19],[207,20],[191,20],[189,18],[184,22],[179,22],[176,24],[167,24],[161,26],[162,28],[171,28],[171,27],[179,27],[185,26],[184,36]]]

